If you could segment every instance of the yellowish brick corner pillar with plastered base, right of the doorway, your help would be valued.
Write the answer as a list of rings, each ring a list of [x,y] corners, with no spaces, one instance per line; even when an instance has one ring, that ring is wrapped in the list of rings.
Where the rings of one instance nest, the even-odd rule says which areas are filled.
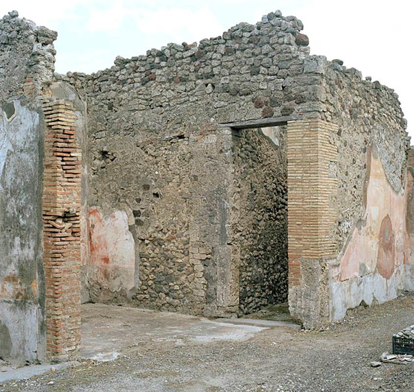
[[[326,260],[337,252],[337,126],[287,124],[289,308],[312,327],[329,317]]]

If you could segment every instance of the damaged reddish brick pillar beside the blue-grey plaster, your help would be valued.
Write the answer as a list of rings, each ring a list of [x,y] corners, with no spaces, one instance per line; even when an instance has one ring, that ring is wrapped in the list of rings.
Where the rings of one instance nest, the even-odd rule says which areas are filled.
[[[43,178],[43,266],[47,351],[52,360],[76,357],[80,345],[80,176],[71,103],[46,99]]]

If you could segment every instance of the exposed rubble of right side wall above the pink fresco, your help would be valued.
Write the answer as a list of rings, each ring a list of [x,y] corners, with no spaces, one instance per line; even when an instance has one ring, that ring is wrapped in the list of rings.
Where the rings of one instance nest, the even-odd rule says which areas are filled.
[[[324,72],[325,118],[338,124],[338,251],[362,217],[369,148],[375,146],[395,191],[403,186],[410,141],[398,96],[378,81],[362,80],[341,61],[321,59]]]

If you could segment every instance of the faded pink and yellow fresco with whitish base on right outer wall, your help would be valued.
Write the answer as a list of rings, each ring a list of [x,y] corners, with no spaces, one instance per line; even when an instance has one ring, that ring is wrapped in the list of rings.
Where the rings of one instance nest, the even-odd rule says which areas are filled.
[[[405,188],[395,192],[373,148],[363,196],[363,216],[331,269],[332,321],[362,303],[382,303],[413,289],[407,278],[414,265],[412,221],[406,219],[413,204],[412,173],[408,171]]]

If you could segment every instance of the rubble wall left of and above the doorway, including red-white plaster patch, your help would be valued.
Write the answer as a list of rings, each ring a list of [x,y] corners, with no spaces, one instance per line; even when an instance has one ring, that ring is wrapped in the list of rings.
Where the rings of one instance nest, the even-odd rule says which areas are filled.
[[[88,103],[93,300],[237,312],[238,272],[226,261],[232,140],[218,125],[318,116],[320,75],[304,64],[302,27],[271,13],[199,45],[168,44],[92,75],[57,75]]]

